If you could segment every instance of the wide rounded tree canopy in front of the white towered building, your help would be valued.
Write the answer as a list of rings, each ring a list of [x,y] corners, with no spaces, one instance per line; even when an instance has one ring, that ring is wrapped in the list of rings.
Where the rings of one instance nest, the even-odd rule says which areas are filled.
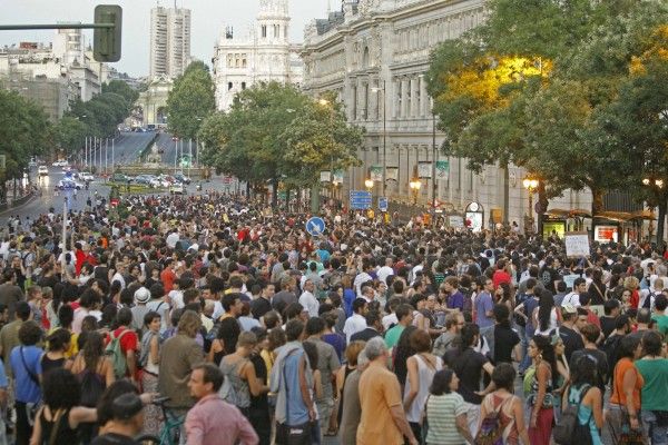
[[[347,125],[332,98],[321,103],[294,86],[269,82],[242,91],[228,112],[209,116],[198,138],[206,147],[202,159],[218,171],[310,187],[321,170],[358,164],[363,131]]]

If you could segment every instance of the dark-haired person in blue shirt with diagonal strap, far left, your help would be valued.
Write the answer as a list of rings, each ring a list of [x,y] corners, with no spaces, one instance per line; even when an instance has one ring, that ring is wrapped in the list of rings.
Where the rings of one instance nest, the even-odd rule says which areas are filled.
[[[36,346],[42,338],[42,330],[33,320],[28,320],[19,329],[19,342],[9,356],[14,376],[14,407],[17,411],[17,445],[28,445],[32,434],[30,411],[41,400],[41,356],[43,350]]]

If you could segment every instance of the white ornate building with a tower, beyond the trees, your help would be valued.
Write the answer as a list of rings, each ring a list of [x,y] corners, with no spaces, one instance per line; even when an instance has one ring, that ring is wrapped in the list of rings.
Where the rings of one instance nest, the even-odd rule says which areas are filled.
[[[301,83],[301,47],[289,43],[288,30],[287,0],[261,0],[245,37],[235,37],[232,28],[220,32],[213,59],[218,109],[228,109],[237,92],[256,82]]]

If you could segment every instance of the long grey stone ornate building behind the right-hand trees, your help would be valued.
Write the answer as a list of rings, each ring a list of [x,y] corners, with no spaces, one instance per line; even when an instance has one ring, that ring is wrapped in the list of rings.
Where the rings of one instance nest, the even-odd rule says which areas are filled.
[[[313,97],[336,93],[348,120],[366,129],[363,166],[347,171],[344,190],[363,190],[370,168],[385,166],[386,189],[376,176],[374,196],[411,201],[411,181],[419,170],[418,200],[431,200],[431,168],[418,166],[433,160],[434,141],[439,147],[444,135],[436,131],[434,138],[424,79],[430,53],[480,24],[484,13],[484,0],[344,0],[341,11],[307,24],[303,89]],[[477,175],[466,169],[465,159],[436,155],[436,198],[443,208],[463,212],[470,202],[479,202],[485,225],[492,211],[498,219],[522,225],[529,206],[522,169],[490,166]],[[589,197],[566,196],[551,207],[590,207]]]

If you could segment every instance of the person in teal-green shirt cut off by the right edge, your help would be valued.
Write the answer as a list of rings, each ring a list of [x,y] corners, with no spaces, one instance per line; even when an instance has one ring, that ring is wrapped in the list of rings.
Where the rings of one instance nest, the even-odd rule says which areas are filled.
[[[645,357],[635,362],[645,380],[640,394],[640,419],[652,444],[665,444],[668,434],[668,359],[661,356],[662,346],[661,335],[648,330],[642,336]]]

